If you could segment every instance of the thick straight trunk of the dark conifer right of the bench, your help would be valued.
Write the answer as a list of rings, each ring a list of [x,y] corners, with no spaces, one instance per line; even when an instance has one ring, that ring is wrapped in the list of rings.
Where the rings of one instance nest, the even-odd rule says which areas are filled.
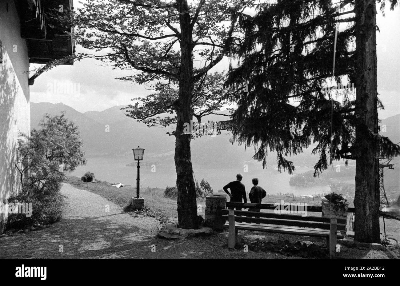
[[[380,242],[376,3],[356,0],[356,194],[355,240]],[[373,134],[372,134],[373,133]]]

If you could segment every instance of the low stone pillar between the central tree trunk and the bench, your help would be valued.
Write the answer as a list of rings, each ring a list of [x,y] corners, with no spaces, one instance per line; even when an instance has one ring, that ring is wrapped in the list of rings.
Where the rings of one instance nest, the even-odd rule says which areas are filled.
[[[226,194],[210,194],[206,197],[205,224],[213,230],[222,231],[225,218],[222,209],[226,208]]]

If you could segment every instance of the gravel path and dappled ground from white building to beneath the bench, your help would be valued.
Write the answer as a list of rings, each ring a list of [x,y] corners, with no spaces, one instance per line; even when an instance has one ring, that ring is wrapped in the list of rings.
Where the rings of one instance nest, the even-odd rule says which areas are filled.
[[[64,184],[61,192],[67,198],[60,222],[0,236],[0,258],[285,258],[274,252],[229,251],[226,233],[178,241],[156,238],[154,218],[133,217],[107,199],[70,184]],[[352,257],[374,257],[371,252],[352,253]],[[379,256],[388,257],[385,252]]]

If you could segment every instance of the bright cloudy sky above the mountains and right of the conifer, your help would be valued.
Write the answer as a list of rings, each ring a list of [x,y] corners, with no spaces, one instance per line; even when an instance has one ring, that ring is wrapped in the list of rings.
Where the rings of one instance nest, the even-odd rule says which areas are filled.
[[[77,1],[74,1],[77,2]],[[75,4],[77,8],[80,4]],[[400,6],[390,11],[387,5],[386,16],[377,14],[376,34],[378,58],[378,93],[385,109],[379,110],[381,119],[400,113]],[[77,51],[82,48],[77,46]],[[228,59],[224,59],[216,70],[227,70]],[[102,111],[116,105],[127,105],[132,99],[151,94],[146,86],[133,82],[116,80],[132,71],[113,70],[98,60],[85,59],[74,66],[58,66],[44,72],[31,86],[32,102],[64,103],[79,112]],[[70,92],[58,93],[59,86],[70,86]]]

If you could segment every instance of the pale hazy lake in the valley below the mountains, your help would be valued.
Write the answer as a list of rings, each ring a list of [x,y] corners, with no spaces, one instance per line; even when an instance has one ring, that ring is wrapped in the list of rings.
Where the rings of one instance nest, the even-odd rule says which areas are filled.
[[[132,156],[133,157],[133,156]],[[130,157],[114,157],[114,158],[87,158],[85,166],[79,166],[73,176],[81,177],[86,171],[94,173],[97,180],[104,180],[110,183],[119,183],[136,186],[136,165],[127,167],[126,164],[132,163],[134,160]],[[136,163],[136,162],[135,162]],[[141,188],[165,188],[166,186],[176,185],[176,172],[173,162],[154,162],[155,172],[152,172],[152,166],[146,160],[141,162],[140,166],[140,186]],[[194,176],[200,183],[202,178],[208,181],[214,192],[222,189],[228,182],[236,180],[236,174],[243,174],[243,184],[246,191],[249,192],[252,187],[252,178],[258,178],[259,185],[270,194],[293,193],[295,195],[322,194],[330,192],[330,187],[326,184],[319,184],[307,187],[290,186],[289,180],[291,176],[287,172],[279,173],[274,169],[276,166],[269,166],[262,169],[260,162],[250,162],[248,164],[248,172],[244,172],[243,164],[231,166],[230,168],[207,168],[193,164]],[[147,166],[146,166],[147,165]],[[153,168],[154,170],[154,168]],[[297,167],[295,174],[300,174],[312,170],[310,167]]]

